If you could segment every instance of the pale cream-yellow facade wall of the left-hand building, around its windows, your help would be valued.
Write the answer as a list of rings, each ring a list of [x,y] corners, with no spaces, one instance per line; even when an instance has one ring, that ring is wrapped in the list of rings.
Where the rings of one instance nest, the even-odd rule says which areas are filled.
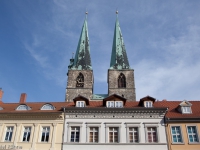
[[[39,115],[39,114],[38,114]],[[61,150],[63,136],[63,115],[59,119],[51,120],[44,118],[40,120],[2,120],[0,119],[0,149],[6,146],[19,146],[22,150]],[[50,115],[49,115],[50,117]],[[7,126],[13,126],[13,135],[11,142],[5,142]],[[23,142],[24,127],[31,127],[31,136],[29,142]],[[50,136],[48,142],[41,142],[42,127],[50,127]],[[18,149],[20,149],[18,147]]]

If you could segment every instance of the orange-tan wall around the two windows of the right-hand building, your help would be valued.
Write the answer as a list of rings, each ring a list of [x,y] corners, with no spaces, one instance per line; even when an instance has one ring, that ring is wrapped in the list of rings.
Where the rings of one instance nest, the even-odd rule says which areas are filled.
[[[171,126],[180,126],[183,143],[173,143],[171,136]],[[198,138],[200,135],[200,124],[199,123],[170,123],[166,125],[166,132],[168,138],[168,146],[169,150],[200,150],[200,143],[189,143],[188,134],[187,134],[187,126],[196,126]],[[199,139],[200,140],[200,139]]]

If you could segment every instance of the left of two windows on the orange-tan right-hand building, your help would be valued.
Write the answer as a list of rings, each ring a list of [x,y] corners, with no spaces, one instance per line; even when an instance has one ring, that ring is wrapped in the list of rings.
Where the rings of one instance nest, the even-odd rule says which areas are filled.
[[[182,143],[181,128],[179,126],[171,127],[173,143]]]

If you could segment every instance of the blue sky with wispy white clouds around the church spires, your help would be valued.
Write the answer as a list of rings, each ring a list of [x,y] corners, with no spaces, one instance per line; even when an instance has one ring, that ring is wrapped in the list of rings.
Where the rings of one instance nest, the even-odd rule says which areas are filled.
[[[88,14],[94,93],[107,93],[115,11],[136,97],[200,100],[199,0],[1,0],[4,102],[64,101],[67,66]]]

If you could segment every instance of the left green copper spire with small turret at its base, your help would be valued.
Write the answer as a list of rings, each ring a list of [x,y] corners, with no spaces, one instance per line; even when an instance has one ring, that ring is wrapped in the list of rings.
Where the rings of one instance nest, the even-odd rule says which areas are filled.
[[[90,45],[87,27],[87,12],[79,38],[75,58],[70,59],[69,69],[72,70],[92,70],[90,59]]]

